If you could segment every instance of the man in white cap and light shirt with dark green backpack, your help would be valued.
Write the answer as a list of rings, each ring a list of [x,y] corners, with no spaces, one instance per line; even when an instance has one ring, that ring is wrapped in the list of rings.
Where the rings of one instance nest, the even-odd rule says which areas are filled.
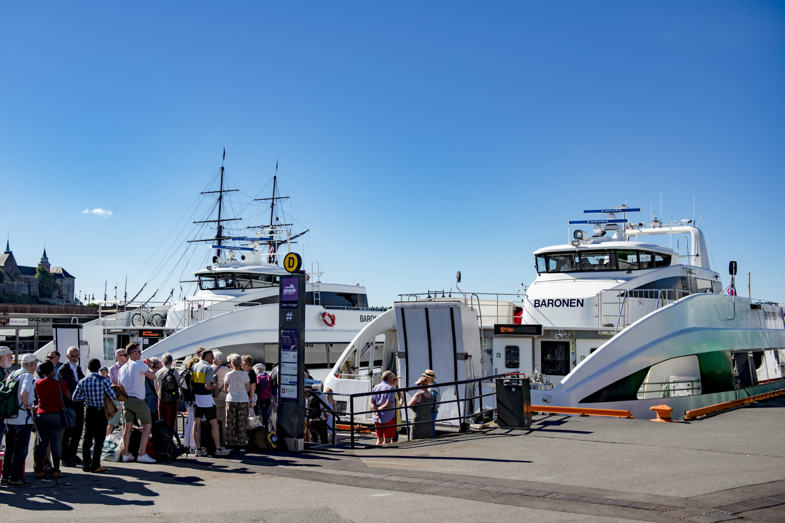
[[[33,427],[33,392],[35,390],[35,368],[38,366],[38,358],[35,354],[24,354],[20,358],[22,368],[11,373],[8,381],[16,383],[13,387],[13,407],[18,405],[18,409],[11,414],[3,412],[5,416],[5,455],[2,460],[2,471],[0,471],[0,486],[4,487],[27,487],[30,481],[26,481],[22,475],[24,460],[27,459],[27,449],[30,447],[30,434]],[[6,383],[4,383],[6,384]],[[9,405],[9,404],[5,404]],[[13,416],[13,417],[12,417]]]

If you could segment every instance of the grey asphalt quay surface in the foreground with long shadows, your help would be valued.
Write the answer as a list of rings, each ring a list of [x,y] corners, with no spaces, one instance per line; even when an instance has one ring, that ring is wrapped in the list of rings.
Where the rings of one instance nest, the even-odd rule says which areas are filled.
[[[4,521],[785,521],[785,398],[692,421],[535,416],[386,449],[64,469],[0,489]],[[32,470],[28,457],[27,470]],[[206,488],[205,488],[206,487]],[[752,502],[752,503],[745,503]],[[773,505],[773,506],[772,506]],[[762,507],[762,508],[758,508]],[[741,518],[741,519],[739,519]]]

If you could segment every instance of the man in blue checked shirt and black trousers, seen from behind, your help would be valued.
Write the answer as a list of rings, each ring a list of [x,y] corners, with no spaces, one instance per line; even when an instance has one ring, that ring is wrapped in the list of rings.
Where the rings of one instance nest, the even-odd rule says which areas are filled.
[[[74,390],[74,401],[82,400],[87,405],[85,413],[85,440],[82,441],[82,470],[84,472],[104,472],[106,467],[100,466],[100,452],[104,449],[107,419],[104,416],[104,394],[109,398],[117,398],[111,382],[98,372],[100,361],[93,358],[87,364],[92,372],[79,380]],[[90,447],[93,447],[93,459],[90,459]]]

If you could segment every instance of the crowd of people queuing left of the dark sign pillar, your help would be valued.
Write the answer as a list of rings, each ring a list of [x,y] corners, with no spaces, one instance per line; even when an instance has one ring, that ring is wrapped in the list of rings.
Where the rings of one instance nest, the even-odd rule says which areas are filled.
[[[0,417],[0,445],[5,436],[0,486],[31,484],[23,470],[34,431],[37,478],[63,478],[60,467],[82,467],[89,473],[108,470],[101,465],[101,452],[104,440],[117,428],[122,430],[123,462],[155,463],[146,452],[153,423],[162,419],[177,430],[181,401],[189,451],[206,456],[206,444],[212,443],[216,456],[227,456],[230,449],[249,445],[249,416],[261,416],[266,427],[275,402],[265,365],[254,365],[249,355],[230,354],[225,365],[220,351],[199,349],[186,362],[182,376],[173,367],[171,354],[142,360],[137,343],[115,350],[115,364],[109,368],[93,358],[86,373],[80,358],[79,347],[70,347],[65,361],[60,361],[57,350],[45,361],[24,354],[21,368],[6,372],[13,352],[0,347],[0,382],[18,382],[19,405],[18,412]],[[202,423],[210,423],[208,437],[213,441],[201,441]],[[135,426],[141,427],[136,456],[130,452]]]

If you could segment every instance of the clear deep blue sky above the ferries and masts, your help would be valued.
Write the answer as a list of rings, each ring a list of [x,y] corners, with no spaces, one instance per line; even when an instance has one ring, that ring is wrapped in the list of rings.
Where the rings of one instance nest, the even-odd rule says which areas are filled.
[[[82,293],[141,288],[226,147],[246,194],[279,158],[306,261],[374,305],[516,292],[582,209],[659,191],[785,301],[782,2],[5,2],[0,59],[2,232]]]

